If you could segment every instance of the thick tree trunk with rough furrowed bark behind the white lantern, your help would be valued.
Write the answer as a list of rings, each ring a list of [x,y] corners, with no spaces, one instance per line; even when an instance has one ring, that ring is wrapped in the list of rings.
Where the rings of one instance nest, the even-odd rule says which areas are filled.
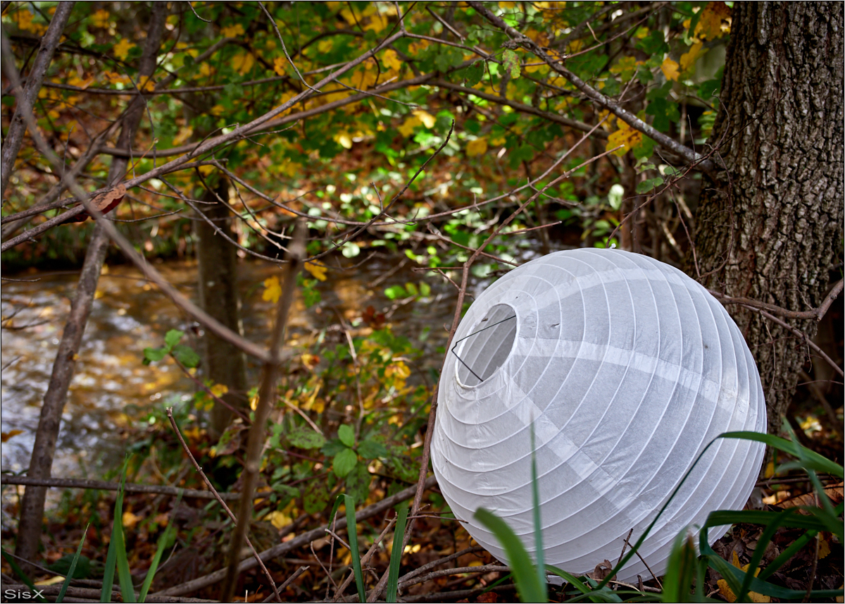
[[[696,211],[702,283],[791,310],[820,305],[842,255],[842,3],[736,3],[710,143],[724,165]],[[717,163],[718,158],[717,158]],[[688,272],[696,274],[688,258]],[[728,310],[777,434],[808,357],[759,313]],[[810,338],[815,321],[788,320]]]

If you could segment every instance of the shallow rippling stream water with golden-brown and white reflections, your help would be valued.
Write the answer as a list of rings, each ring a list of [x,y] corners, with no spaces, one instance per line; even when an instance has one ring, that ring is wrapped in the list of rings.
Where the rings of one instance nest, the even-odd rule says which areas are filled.
[[[455,288],[440,277],[412,272],[410,261],[371,260],[354,269],[330,271],[319,283],[322,301],[306,309],[297,299],[289,333],[312,332],[349,321],[368,305],[388,315],[394,332],[423,349],[426,364],[442,363],[455,305]],[[348,262],[348,261],[347,261]],[[196,264],[158,266],[184,294],[195,299]],[[391,272],[392,271],[392,272]],[[390,273],[386,278],[385,275]],[[259,343],[269,338],[271,305],[261,299],[262,282],[281,275],[278,267],[241,261],[239,288],[245,335]],[[59,338],[78,279],[77,272],[27,272],[22,281],[3,284],[2,464],[20,472],[29,464],[41,403],[50,381]],[[384,288],[425,279],[431,294],[397,304]],[[99,478],[104,467],[123,458],[128,427],[145,408],[164,404],[173,394],[187,398],[194,384],[171,363],[142,365],[145,347],[158,347],[169,329],[189,332],[193,321],[133,266],[110,266],[101,276],[85,330],[74,380],[63,412],[52,475]],[[421,334],[428,336],[421,339]],[[254,382],[254,380],[252,381]]]

